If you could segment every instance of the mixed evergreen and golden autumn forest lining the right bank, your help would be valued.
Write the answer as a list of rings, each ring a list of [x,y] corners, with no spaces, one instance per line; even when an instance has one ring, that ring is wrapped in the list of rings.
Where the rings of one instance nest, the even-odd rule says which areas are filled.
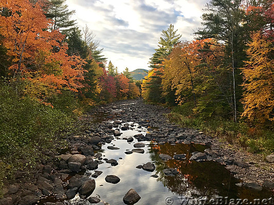
[[[211,0],[206,11],[192,41],[173,25],[162,31],[142,96],[176,106],[169,118],[183,126],[271,152],[274,4]]]

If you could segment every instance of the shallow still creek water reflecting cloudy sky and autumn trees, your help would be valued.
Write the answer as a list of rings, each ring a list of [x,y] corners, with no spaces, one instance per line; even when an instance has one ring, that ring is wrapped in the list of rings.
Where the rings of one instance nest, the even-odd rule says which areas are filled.
[[[134,139],[133,142],[127,142],[123,138],[148,132],[144,127],[137,128],[138,124],[133,124],[133,122],[128,122],[128,124],[134,125],[134,127],[130,126],[132,130],[121,131],[121,136],[116,137],[110,144],[102,145],[102,149],[97,151],[102,153],[102,158],[116,159],[118,165],[113,167],[102,160],[104,163],[99,165],[96,171],[102,171],[103,173],[95,178],[96,188],[90,196],[97,196],[101,201],[115,205],[124,204],[122,200],[123,196],[130,189],[134,189],[141,197],[136,204],[147,205],[166,204],[166,197],[171,197],[174,200],[172,204],[182,204],[178,196],[193,197],[196,199],[199,197],[213,198],[216,196],[228,196],[229,198],[247,198],[249,200],[272,196],[271,192],[267,189],[257,192],[236,186],[235,184],[240,181],[235,179],[221,163],[189,160],[192,152],[204,152],[207,149],[204,145],[171,145],[168,143],[158,145],[153,141],[142,141],[145,144],[145,147],[142,148],[145,151],[144,154],[125,154],[125,151],[135,149],[133,145],[138,141]],[[109,150],[107,146],[115,146],[120,149]],[[187,159],[163,161],[159,158],[159,154],[168,154],[170,156],[174,154],[186,154]],[[153,162],[156,166],[154,172],[136,168],[136,166],[143,165],[149,161]],[[177,169],[179,174],[176,176],[166,176],[162,172],[166,168]],[[82,174],[89,175],[88,172],[94,173],[94,171],[86,171]],[[151,177],[153,174],[158,175],[158,178]],[[116,175],[121,180],[117,184],[108,183],[105,181],[106,175]],[[91,176],[89,177],[92,178]],[[43,203],[46,201],[52,200],[49,197],[48,200],[43,200]],[[74,199],[63,202],[65,204],[90,204],[87,200],[80,199],[78,195]]]

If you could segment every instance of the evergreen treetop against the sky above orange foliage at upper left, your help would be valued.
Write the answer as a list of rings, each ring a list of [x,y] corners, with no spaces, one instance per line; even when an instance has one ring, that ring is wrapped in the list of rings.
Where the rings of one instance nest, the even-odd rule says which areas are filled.
[[[51,31],[60,29],[66,33],[71,27],[75,26],[76,20],[71,20],[75,10],[69,11],[65,4],[66,0],[49,0],[49,6],[46,10],[46,17],[53,20]]]

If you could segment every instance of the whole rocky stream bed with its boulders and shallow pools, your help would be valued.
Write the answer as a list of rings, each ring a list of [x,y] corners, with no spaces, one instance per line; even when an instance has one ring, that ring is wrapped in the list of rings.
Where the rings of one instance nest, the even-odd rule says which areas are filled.
[[[11,181],[0,205],[181,204],[179,196],[274,196],[274,155],[265,160],[239,152],[169,123],[168,112],[142,99],[96,107],[82,119],[88,129],[68,136],[68,149],[42,159],[43,171],[32,181]]]

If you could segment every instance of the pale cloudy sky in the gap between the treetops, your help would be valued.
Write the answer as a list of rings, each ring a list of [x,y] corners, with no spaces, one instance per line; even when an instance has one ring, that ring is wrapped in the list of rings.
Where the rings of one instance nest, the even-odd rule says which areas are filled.
[[[193,39],[209,0],[67,0],[79,28],[88,26],[103,54],[122,72],[149,69],[161,31],[173,24],[181,40]],[[107,62],[108,63],[108,62]]]

